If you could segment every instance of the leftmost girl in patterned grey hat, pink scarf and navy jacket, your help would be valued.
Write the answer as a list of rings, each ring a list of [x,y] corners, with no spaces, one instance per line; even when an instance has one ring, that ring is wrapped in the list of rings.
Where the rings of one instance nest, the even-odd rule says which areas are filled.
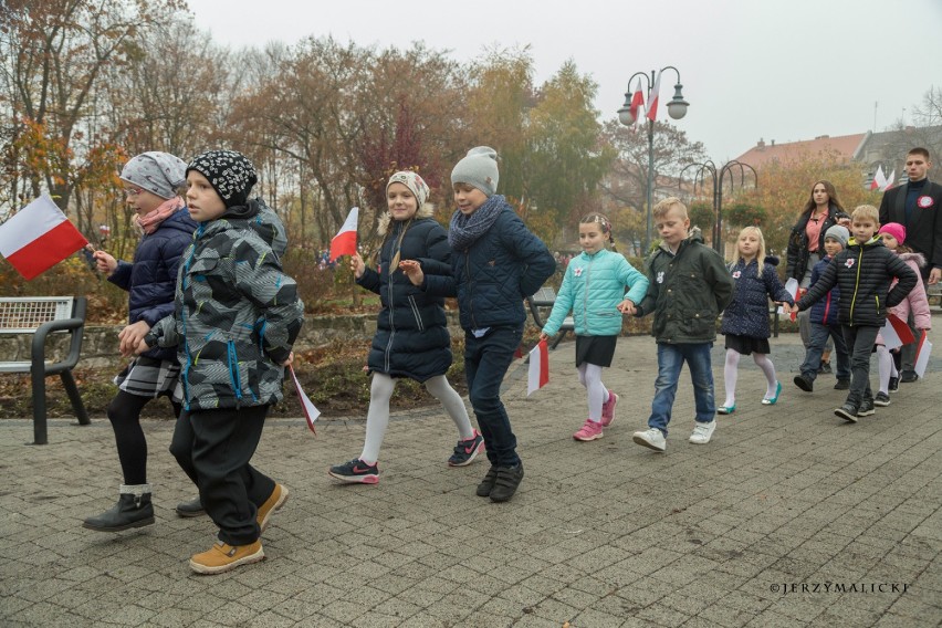
[[[187,164],[169,153],[142,153],[121,171],[125,202],[135,212],[140,242],[134,261],[118,261],[105,251],[95,251],[100,272],[128,293],[128,325],[118,334],[122,355],[133,355],[137,343],[157,321],[172,313],[174,292],[180,255],[192,240],[196,222],[178,195]],[[170,398],[174,414],[180,404],[172,393],[180,365],[172,348],[154,348],[137,356],[117,377],[118,393],[108,405],[108,420],[115,432],[124,483],[118,502],[102,514],[90,516],[83,527],[118,532],[154,523],[147,482],[147,440],[140,428],[140,411],[160,396]],[[197,509],[199,502],[197,502]],[[197,512],[196,514],[199,514]]]

